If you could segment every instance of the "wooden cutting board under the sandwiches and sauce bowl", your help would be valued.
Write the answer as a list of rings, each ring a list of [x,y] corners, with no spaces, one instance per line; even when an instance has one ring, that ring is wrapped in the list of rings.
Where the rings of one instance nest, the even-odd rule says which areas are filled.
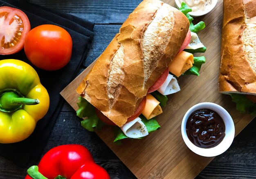
[[[175,7],[174,0],[164,2]],[[123,145],[113,144],[111,127],[96,132],[139,179],[193,179],[211,162],[213,157],[196,155],[182,140],[182,118],[191,106],[201,102],[221,105],[232,116],[236,135],[254,118],[249,114],[240,114],[236,111],[230,96],[218,93],[222,1],[218,1],[211,13],[196,18],[195,22],[200,20],[206,24],[206,28],[198,33],[198,36],[207,47],[204,53],[207,62],[202,65],[200,76],[182,76],[178,79],[181,91],[168,96],[167,106],[163,108],[164,113],[157,117],[161,129],[150,133],[143,140],[132,140]],[[200,55],[202,54],[198,54]],[[61,92],[63,98],[75,110],[78,109],[76,103],[79,97],[75,89],[93,64]]]

